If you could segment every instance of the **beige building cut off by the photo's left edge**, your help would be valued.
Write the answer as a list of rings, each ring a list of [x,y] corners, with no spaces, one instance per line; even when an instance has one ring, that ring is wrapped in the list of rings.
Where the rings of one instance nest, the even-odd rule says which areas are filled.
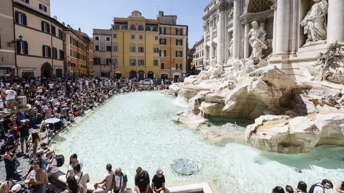
[[[1,1],[0,13],[0,77],[10,72],[13,76],[15,75],[15,41],[12,0]]]

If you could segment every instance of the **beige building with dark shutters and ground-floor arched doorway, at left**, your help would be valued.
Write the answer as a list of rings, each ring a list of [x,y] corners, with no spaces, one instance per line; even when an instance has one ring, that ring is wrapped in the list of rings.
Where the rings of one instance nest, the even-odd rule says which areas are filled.
[[[63,76],[64,25],[51,18],[50,0],[13,0],[13,18],[16,75]]]

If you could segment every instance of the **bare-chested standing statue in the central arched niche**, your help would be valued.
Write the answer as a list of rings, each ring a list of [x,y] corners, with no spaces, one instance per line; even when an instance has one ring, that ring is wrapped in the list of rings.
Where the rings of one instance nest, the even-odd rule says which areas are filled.
[[[250,32],[244,37],[244,39],[241,42],[244,42],[245,39],[247,39],[250,35],[250,39],[248,40],[248,43],[252,47],[252,54],[249,57],[249,59],[258,57],[261,58],[263,56],[262,49],[266,49],[266,45],[264,44],[265,41],[265,35],[266,32],[262,27],[258,26],[257,21],[253,21],[251,23],[252,29]]]

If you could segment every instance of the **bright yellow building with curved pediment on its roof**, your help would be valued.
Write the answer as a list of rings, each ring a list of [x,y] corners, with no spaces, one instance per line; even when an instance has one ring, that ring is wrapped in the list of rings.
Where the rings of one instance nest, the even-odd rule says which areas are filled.
[[[111,76],[158,78],[159,22],[145,19],[139,11],[128,18],[114,18],[111,25]],[[118,68],[114,70],[114,63]]]

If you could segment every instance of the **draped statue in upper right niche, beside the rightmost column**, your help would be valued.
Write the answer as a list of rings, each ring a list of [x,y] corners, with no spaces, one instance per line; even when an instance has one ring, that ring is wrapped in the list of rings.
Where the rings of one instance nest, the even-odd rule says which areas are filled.
[[[316,3],[301,21],[301,26],[304,27],[304,34],[308,34],[308,42],[315,42],[325,40],[327,36],[327,24],[325,14],[329,4],[326,0],[313,0]]]

